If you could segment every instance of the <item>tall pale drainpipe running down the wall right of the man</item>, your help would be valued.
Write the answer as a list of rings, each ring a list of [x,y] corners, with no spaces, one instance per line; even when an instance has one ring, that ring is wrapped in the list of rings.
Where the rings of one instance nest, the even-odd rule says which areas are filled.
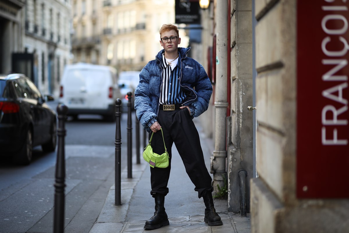
[[[228,1],[216,1],[216,87],[215,87],[215,150],[211,157],[214,192],[223,188],[227,174],[227,69],[228,69]],[[224,178],[223,178],[224,176]]]

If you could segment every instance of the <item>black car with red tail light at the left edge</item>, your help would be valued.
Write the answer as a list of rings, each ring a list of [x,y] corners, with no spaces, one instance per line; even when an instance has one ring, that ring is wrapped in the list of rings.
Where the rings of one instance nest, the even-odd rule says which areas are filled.
[[[0,75],[0,156],[11,156],[18,164],[29,164],[33,147],[52,152],[57,144],[56,113],[28,77]]]

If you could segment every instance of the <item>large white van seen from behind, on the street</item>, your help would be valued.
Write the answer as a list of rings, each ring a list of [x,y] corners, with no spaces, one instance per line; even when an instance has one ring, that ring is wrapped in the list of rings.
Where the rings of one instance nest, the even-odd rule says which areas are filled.
[[[86,63],[67,65],[59,97],[59,102],[68,107],[68,116],[77,119],[79,114],[99,114],[115,121],[115,101],[122,98],[116,69]]]

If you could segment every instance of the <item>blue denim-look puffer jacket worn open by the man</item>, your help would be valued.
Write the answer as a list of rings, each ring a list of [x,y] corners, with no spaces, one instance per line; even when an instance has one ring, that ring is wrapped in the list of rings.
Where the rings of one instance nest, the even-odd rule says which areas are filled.
[[[212,85],[205,69],[194,59],[187,57],[190,48],[178,48],[180,53],[180,86],[186,94],[186,99],[182,103],[189,106],[193,117],[198,117],[207,110],[212,94]],[[157,121],[159,112],[159,100],[162,85],[161,50],[155,60],[142,69],[139,74],[139,85],[135,94],[134,108],[136,115],[143,125],[143,128],[151,132],[150,126]],[[195,90],[194,90],[195,88]]]

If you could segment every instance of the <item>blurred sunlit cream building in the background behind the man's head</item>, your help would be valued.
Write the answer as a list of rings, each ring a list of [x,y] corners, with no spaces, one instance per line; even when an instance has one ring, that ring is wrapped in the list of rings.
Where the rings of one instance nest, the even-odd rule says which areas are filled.
[[[159,29],[174,23],[174,0],[74,0],[73,62],[140,71],[162,49]],[[187,45],[185,31],[180,30]]]

